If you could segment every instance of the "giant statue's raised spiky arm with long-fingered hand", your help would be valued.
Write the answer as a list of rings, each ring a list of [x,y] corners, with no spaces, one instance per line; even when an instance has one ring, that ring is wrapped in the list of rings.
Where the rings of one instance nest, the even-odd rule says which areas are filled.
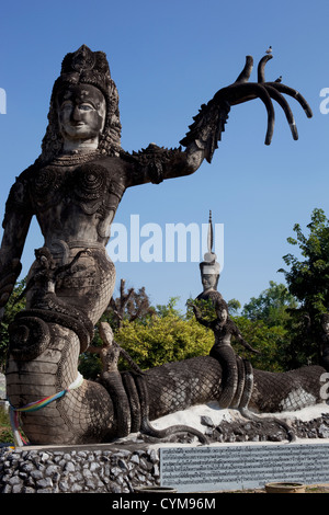
[[[283,94],[295,99],[309,118],[313,116],[311,108],[298,91],[281,82],[281,77],[274,81],[265,81],[265,65],[272,57],[272,54],[266,54],[259,61],[257,82],[249,82],[253,58],[246,57],[246,65],[237,80],[222,88],[207,104],[201,106],[198,114],[194,116],[189,133],[180,141],[185,147],[184,151],[168,150],[152,144],[147,149],[134,153],[135,158],[145,165],[144,173],[136,175],[136,182],[157,183],[163,179],[189,175],[200,168],[204,159],[211,163],[218,141],[222,140],[230,107],[254,99],[260,99],[266,108],[265,145],[271,144],[274,131],[275,112],[272,100],[283,108],[292,136],[297,140],[298,133],[294,115]]]

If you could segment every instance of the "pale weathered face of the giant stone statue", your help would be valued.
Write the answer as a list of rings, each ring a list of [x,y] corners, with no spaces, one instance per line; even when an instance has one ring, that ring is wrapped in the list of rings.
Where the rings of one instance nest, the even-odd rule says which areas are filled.
[[[106,103],[98,88],[69,87],[58,94],[58,122],[65,140],[84,141],[99,137],[104,127]]]

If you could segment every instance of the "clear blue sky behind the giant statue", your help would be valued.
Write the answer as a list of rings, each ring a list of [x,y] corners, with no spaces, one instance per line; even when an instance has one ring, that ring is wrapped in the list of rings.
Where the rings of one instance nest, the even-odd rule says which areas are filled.
[[[3,2],[2,2],[3,3]],[[299,140],[291,137],[275,105],[272,145],[264,145],[266,113],[257,100],[232,107],[212,164],[189,176],[128,191],[115,221],[129,227],[204,224],[208,210],[224,224],[224,270],[218,289],[242,305],[270,281],[295,249],[286,238],[305,227],[315,207],[329,215],[329,114],[320,91],[329,88],[329,3],[236,0],[12,1],[1,7],[0,217],[16,175],[37,158],[47,125],[54,80],[68,52],[87,44],[107,55],[120,92],[124,149],[149,142],[177,147],[192,117],[222,87],[234,82],[247,55],[257,64],[273,47],[268,80],[283,76],[309,102],[308,119],[293,99]],[[329,105],[329,104],[328,104]],[[23,275],[43,239],[32,224],[23,254]],[[180,297],[180,306],[202,287],[197,263],[116,263],[117,281],[146,287],[154,304]],[[116,296],[117,289],[114,293]]]

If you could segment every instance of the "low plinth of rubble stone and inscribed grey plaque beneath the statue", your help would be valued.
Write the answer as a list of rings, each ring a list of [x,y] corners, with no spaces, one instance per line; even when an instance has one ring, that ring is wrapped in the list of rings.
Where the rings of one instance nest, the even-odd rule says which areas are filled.
[[[329,440],[0,448],[0,493],[214,494],[279,481],[328,484]]]

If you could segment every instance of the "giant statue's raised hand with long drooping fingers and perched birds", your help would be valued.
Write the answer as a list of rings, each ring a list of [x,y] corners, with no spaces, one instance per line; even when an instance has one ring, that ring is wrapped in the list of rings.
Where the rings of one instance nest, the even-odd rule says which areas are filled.
[[[306,100],[293,88],[282,84],[281,78],[276,79],[274,82],[265,82],[265,64],[269,59],[272,59],[272,57],[273,56],[270,54],[260,60],[258,65],[258,82],[248,82],[252,71],[253,59],[251,56],[247,56],[245,68],[237,80],[232,84],[219,90],[213,99],[213,101],[218,102],[218,104],[226,101],[230,106],[248,102],[249,100],[257,98],[261,99],[268,111],[265,145],[271,144],[274,130],[274,107],[271,99],[275,100],[283,108],[294,139],[298,139],[295,119],[292,110],[282,93],[286,93],[287,95],[296,99],[304,108],[307,117],[310,118],[313,116],[311,110]]]

